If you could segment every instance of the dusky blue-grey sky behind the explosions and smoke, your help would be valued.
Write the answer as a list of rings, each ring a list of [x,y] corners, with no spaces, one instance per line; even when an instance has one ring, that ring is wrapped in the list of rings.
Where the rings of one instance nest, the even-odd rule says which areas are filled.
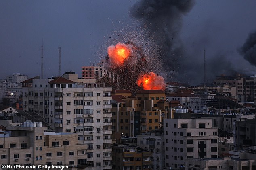
[[[107,47],[132,39],[138,45],[147,39],[143,20],[132,16],[136,0],[1,0],[0,1],[0,79],[13,73],[41,75],[41,45],[44,52],[44,78],[74,71],[97,63],[107,55]],[[189,12],[180,16],[179,44],[183,55],[170,66],[173,80],[198,83],[206,74],[211,81],[222,73],[256,74],[255,66],[238,52],[248,35],[256,30],[255,0],[195,0]],[[122,37],[122,38],[121,38]],[[152,49],[152,52],[150,51]],[[161,70],[160,74],[165,74]],[[168,72],[168,71],[166,71]],[[180,77],[180,78],[179,78]]]

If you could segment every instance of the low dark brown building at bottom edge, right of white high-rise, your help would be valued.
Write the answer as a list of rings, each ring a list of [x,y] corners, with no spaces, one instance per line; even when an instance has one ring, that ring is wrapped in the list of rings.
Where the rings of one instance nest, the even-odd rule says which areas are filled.
[[[113,170],[150,170],[151,152],[137,146],[118,144],[113,146]]]

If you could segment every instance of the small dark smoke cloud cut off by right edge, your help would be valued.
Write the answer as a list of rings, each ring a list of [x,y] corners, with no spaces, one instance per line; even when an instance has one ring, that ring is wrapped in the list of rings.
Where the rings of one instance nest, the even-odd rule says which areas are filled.
[[[256,31],[249,34],[239,52],[243,55],[244,59],[256,66]]]

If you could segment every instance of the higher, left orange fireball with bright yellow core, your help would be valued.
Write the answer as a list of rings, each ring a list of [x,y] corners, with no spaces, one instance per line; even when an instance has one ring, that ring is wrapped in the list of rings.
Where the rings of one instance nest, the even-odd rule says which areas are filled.
[[[109,54],[109,59],[117,65],[122,65],[124,60],[130,56],[132,48],[130,45],[123,43],[117,43],[116,45],[111,45],[107,48]]]

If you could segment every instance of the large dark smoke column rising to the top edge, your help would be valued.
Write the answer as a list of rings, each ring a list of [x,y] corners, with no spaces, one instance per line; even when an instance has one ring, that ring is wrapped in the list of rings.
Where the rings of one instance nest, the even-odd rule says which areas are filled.
[[[150,41],[161,48],[155,57],[164,63],[165,70],[179,70],[177,65],[183,57],[179,35],[182,18],[193,5],[193,0],[141,0],[130,9],[131,16],[142,22]]]

